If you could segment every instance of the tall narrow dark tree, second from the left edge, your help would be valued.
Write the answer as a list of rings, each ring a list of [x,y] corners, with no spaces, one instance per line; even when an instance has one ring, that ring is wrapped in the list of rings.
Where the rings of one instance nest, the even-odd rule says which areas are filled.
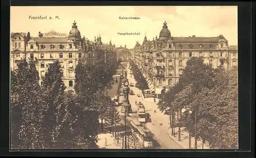
[[[44,134],[47,148],[55,148],[56,137],[59,135],[59,125],[65,116],[65,105],[63,95],[65,84],[62,81],[62,72],[58,60],[49,66],[48,72],[42,78],[42,91],[44,100],[47,103],[47,110],[44,111]]]

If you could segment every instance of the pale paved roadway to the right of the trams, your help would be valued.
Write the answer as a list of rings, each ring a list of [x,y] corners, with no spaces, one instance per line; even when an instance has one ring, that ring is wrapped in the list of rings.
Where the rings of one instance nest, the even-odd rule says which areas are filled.
[[[136,81],[134,77],[130,75],[130,70],[127,68],[127,79],[129,82],[133,82],[134,85],[136,84]],[[145,106],[145,111],[150,114],[150,122],[146,123],[146,127],[155,134],[156,140],[159,142],[159,144],[165,148],[165,149],[184,149],[181,145],[176,143],[174,140],[172,140],[168,135],[168,128],[169,128],[169,118],[168,116],[164,115],[159,109],[157,108],[157,103],[144,101],[142,97],[137,97],[137,94],[141,94],[141,91],[137,87],[130,87],[133,89],[135,95],[131,96],[129,95],[129,101],[133,109],[137,109],[137,105],[135,104],[135,101],[141,102]],[[154,112],[156,110],[156,112]],[[163,125],[160,126],[160,123]]]

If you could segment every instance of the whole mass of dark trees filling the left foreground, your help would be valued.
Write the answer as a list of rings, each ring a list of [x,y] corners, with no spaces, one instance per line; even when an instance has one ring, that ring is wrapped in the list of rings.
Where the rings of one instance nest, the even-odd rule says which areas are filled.
[[[40,86],[34,61],[21,60],[11,72],[11,148],[95,148],[98,120],[118,120],[114,102],[103,95],[118,65],[104,70],[79,62],[74,94],[65,91],[59,61],[50,65]]]

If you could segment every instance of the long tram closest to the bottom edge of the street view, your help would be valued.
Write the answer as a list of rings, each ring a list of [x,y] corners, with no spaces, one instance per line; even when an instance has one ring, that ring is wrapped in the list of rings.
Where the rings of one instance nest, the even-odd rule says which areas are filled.
[[[144,148],[151,148],[153,147],[153,137],[154,134],[148,130],[143,124],[141,124],[136,118],[133,118],[131,122],[129,122],[131,125],[132,130],[138,134],[139,139],[142,142],[142,146]]]

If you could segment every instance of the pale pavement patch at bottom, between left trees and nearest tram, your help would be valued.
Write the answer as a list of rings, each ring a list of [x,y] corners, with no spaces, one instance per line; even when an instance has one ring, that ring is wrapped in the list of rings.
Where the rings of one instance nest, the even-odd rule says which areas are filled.
[[[106,146],[105,146],[106,139]],[[98,142],[99,149],[122,149],[122,144],[115,141],[115,137],[111,133],[101,133],[98,134]]]

